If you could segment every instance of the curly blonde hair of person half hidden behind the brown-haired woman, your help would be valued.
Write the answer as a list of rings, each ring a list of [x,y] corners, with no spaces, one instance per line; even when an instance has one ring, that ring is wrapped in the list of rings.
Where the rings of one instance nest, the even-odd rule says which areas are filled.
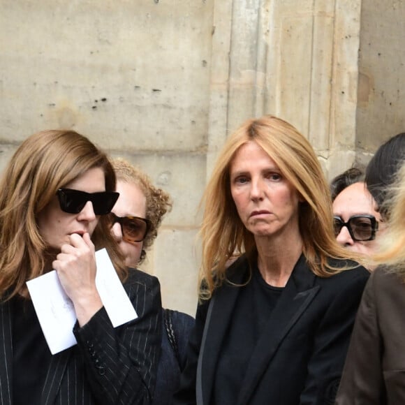
[[[146,250],[152,246],[158,235],[159,226],[166,212],[172,209],[172,201],[168,193],[155,187],[152,180],[142,170],[135,168],[128,161],[118,158],[112,160],[117,180],[138,186],[146,198],[146,219],[151,221],[149,231],[143,241],[139,263],[145,259]]]

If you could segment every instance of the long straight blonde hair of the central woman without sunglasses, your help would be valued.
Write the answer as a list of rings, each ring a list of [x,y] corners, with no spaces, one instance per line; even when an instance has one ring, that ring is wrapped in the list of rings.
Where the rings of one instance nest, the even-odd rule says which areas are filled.
[[[208,299],[226,279],[226,263],[235,252],[256,253],[253,234],[244,227],[230,193],[230,163],[238,149],[256,142],[277,164],[284,177],[302,197],[299,208],[303,253],[309,267],[319,277],[329,277],[340,269],[329,258],[358,258],[339,246],[334,237],[332,200],[329,186],[314,149],[288,122],[272,115],[249,119],[235,131],[219,155],[205,189],[205,203],[200,236],[202,265],[200,299]]]

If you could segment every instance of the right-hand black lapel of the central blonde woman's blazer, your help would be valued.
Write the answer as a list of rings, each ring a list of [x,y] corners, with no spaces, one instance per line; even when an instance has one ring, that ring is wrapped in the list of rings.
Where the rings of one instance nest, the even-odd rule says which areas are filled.
[[[309,270],[304,256],[301,255],[253,350],[240,390],[238,405],[248,403],[277,348],[318,293],[320,287],[314,286],[314,281],[315,274]]]

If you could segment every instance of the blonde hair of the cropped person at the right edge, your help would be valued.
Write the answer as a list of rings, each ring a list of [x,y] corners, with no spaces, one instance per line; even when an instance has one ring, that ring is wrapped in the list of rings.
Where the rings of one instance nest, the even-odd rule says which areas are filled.
[[[395,182],[388,191],[388,226],[381,237],[375,263],[389,265],[405,282],[405,163],[398,170]]]

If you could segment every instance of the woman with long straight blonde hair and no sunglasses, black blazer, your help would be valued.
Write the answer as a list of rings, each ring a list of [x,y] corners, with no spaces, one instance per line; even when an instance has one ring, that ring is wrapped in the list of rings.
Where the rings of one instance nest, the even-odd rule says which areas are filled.
[[[230,135],[201,235],[174,404],[332,404],[369,273],[337,244],[321,165],[293,126],[265,116]]]

